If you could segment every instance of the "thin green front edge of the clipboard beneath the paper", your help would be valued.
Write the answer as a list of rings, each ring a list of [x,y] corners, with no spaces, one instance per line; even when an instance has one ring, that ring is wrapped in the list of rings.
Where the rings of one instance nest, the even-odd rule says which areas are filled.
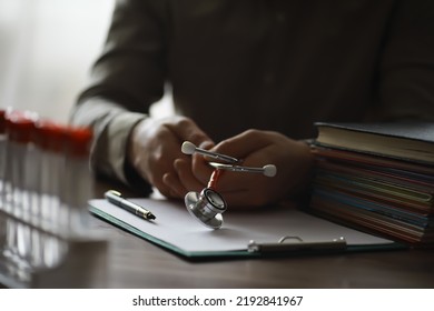
[[[211,252],[188,252],[180,248],[177,248],[166,241],[155,238],[137,228],[130,225],[127,222],[124,222],[117,218],[111,217],[110,214],[100,211],[92,205],[88,205],[91,214],[97,218],[105,220],[106,222],[122,229],[129,233],[135,234],[141,239],[145,239],[165,250],[170,251],[174,254],[177,254],[184,259],[190,261],[206,261],[206,260],[225,260],[225,259],[258,259],[258,258],[283,258],[283,257],[296,257],[296,255],[310,255],[310,254],[332,254],[332,253],[357,253],[357,252],[374,252],[374,251],[392,251],[392,250],[408,250],[410,247],[393,242],[385,244],[372,244],[372,245],[347,245],[345,249],[334,249],[334,250],[297,250],[297,251],[285,251],[285,252],[274,252],[274,253],[262,253],[262,252],[249,252],[246,250],[239,251],[211,251]]]

